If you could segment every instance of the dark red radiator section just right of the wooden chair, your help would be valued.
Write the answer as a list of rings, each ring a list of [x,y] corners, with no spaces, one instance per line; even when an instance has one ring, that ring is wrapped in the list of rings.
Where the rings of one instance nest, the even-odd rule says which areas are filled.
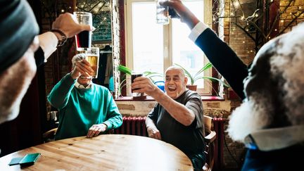
[[[214,170],[224,168],[224,122],[224,118],[213,118],[214,130],[217,133]]]

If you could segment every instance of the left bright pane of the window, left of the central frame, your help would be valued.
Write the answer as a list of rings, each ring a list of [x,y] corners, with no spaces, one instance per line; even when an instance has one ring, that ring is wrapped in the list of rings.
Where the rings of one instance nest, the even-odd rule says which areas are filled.
[[[132,3],[133,66],[163,72],[163,25],[156,24],[155,2]]]

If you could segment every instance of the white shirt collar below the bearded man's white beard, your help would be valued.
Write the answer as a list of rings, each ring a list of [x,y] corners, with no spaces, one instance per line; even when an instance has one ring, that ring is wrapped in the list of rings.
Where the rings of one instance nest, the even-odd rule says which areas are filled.
[[[304,142],[304,125],[261,129],[245,137],[247,148],[272,151]]]

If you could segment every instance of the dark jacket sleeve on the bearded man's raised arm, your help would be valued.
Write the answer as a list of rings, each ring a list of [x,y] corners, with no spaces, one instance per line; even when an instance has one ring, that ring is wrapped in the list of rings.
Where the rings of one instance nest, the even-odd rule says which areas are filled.
[[[203,50],[215,69],[227,80],[241,99],[245,99],[243,80],[248,75],[247,66],[236,53],[213,30],[206,29],[196,39],[195,44]]]

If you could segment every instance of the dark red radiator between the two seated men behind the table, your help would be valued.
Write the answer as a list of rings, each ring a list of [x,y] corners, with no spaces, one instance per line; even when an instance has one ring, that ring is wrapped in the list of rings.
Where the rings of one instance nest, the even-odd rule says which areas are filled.
[[[115,129],[115,134],[130,134],[148,137],[146,132],[146,116],[141,117],[122,117],[122,126]]]

